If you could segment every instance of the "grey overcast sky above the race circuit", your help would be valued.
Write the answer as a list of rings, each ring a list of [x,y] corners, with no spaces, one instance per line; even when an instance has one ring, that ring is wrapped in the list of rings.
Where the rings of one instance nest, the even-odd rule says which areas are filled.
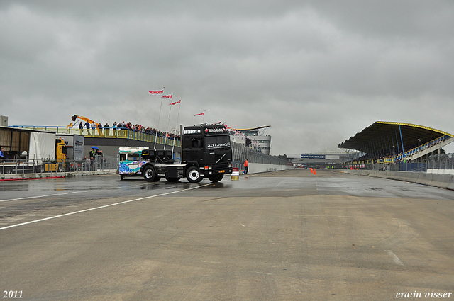
[[[454,1],[2,0],[0,115],[157,127],[148,91],[165,87],[183,125],[271,125],[271,154],[336,150],[375,121],[454,134],[453,16]]]

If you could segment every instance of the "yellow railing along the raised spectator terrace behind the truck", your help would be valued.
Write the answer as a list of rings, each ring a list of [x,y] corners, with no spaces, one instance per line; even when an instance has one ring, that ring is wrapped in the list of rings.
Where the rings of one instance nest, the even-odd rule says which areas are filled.
[[[181,141],[173,139],[171,137],[160,136],[159,134],[138,132],[135,130],[128,129],[104,129],[104,128],[83,128],[79,127],[48,127],[48,126],[32,126],[32,125],[21,125],[16,126],[18,128],[25,128],[28,130],[43,130],[48,132],[55,132],[57,134],[76,134],[83,135],[84,137],[92,138],[126,138],[131,140],[138,140],[143,142],[152,142],[157,144],[165,144],[174,147],[180,147]]]

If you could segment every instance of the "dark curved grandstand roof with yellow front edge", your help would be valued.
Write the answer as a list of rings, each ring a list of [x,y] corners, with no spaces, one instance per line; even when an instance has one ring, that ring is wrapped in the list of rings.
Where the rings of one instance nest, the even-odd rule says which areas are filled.
[[[338,147],[356,149],[365,153],[370,152],[371,148],[377,151],[388,151],[392,149],[392,146],[397,150],[398,147],[402,148],[402,144],[404,144],[404,149],[413,149],[419,144],[422,145],[443,136],[454,137],[448,132],[423,125],[377,121],[345,142],[338,144]]]

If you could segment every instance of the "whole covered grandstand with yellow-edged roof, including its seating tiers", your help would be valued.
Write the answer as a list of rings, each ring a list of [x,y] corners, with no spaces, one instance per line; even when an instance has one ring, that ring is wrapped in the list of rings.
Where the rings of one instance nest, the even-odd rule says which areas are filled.
[[[341,149],[354,149],[364,155],[364,163],[414,161],[454,142],[448,132],[410,123],[377,121],[355,136],[338,144]]]

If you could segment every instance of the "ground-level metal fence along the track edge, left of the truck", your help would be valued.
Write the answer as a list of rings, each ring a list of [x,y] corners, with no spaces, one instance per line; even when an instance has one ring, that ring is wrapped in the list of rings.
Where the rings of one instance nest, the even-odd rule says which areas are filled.
[[[61,176],[72,172],[94,172],[116,169],[118,166],[117,157],[96,155],[93,160],[79,162],[72,161],[42,161],[42,160],[2,160],[0,162],[0,175],[25,175],[35,174],[36,177]]]

